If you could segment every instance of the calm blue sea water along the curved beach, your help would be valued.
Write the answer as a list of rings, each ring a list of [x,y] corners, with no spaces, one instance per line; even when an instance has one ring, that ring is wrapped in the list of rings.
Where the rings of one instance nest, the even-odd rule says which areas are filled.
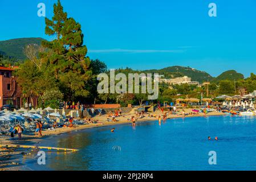
[[[46,152],[46,165],[23,159],[35,170],[255,170],[255,117],[195,117],[99,127],[43,140],[40,146],[77,148]],[[219,140],[208,140],[208,136]],[[210,165],[209,151],[217,164]]]

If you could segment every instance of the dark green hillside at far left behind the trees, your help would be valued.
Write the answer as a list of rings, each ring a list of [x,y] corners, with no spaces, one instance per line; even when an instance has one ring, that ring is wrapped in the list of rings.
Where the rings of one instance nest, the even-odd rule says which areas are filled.
[[[26,56],[23,49],[28,44],[38,44],[42,42],[42,38],[20,38],[0,41],[0,52],[2,55],[13,57],[17,60],[25,60]]]

